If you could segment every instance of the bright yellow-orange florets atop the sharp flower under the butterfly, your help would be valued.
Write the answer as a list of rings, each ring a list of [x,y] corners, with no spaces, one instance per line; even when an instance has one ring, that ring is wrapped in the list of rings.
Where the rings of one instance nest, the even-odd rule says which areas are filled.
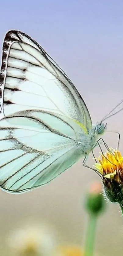
[[[96,170],[103,178],[120,181],[123,178],[123,156],[119,150],[110,149],[105,155],[100,154],[95,163]]]

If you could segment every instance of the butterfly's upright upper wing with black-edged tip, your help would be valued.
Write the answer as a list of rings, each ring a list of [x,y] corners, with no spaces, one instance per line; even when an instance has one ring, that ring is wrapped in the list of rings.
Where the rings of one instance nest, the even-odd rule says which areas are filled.
[[[5,35],[0,75],[1,112],[7,116],[41,109],[76,119],[86,129],[92,122],[85,102],[61,68],[21,31]]]

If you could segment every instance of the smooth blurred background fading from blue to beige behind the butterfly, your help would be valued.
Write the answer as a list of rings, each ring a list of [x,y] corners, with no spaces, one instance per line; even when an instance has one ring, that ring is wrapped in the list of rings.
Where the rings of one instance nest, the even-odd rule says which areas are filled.
[[[17,29],[33,37],[63,68],[85,100],[93,123],[100,121],[123,98],[123,1],[2,1],[0,47],[6,31]],[[108,119],[108,130],[121,133],[123,111]],[[105,140],[116,147],[118,136]],[[89,160],[89,164],[92,161]],[[45,221],[60,242],[81,244],[87,216],[85,192],[99,177],[81,160],[54,181],[21,195],[0,191],[0,245],[21,222]],[[98,255],[123,255],[123,219],[117,204],[109,203],[98,222]],[[0,251],[1,251],[0,250]],[[7,255],[7,254],[6,254]]]

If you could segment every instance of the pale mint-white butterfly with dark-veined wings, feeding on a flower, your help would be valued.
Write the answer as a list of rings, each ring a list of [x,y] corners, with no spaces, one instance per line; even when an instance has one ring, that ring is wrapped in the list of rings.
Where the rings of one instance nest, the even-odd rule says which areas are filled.
[[[5,35],[0,74],[0,187],[21,193],[44,185],[96,146],[106,125],[92,126],[71,80],[30,36]]]

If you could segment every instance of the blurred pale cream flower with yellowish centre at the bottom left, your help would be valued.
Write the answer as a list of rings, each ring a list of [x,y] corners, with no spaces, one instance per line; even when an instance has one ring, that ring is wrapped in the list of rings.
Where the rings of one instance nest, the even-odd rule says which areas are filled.
[[[28,225],[12,232],[9,245],[17,256],[52,256],[56,246],[53,233],[42,225]]]

